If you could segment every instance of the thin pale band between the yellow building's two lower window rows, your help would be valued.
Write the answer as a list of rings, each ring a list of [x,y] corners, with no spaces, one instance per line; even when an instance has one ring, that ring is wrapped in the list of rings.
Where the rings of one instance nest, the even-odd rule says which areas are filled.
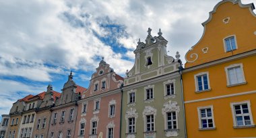
[[[254,94],[254,93],[256,93],[256,90],[252,90],[249,92],[239,92],[236,94],[226,94],[226,95],[222,95],[222,96],[214,96],[214,97],[210,97],[210,98],[201,98],[201,99],[197,99],[197,100],[187,100],[184,103],[186,104],[186,103],[192,103],[192,102],[201,102],[201,101],[205,101],[205,100],[215,100],[218,98],[227,98],[227,97],[232,97],[232,96],[241,96],[241,95]]]

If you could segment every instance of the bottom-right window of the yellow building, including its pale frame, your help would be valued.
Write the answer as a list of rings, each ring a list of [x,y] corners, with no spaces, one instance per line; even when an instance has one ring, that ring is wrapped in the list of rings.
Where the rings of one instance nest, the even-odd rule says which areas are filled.
[[[250,101],[231,103],[234,127],[251,126],[253,115],[251,114]]]

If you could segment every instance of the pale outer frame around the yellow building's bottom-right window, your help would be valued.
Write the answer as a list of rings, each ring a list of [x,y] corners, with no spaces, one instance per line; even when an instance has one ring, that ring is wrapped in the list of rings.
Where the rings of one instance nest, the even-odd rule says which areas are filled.
[[[238,126],[237,123],[236,123],[236,113],[234,112],[234,105],[243,105],[243,104],[247,104],[248,111],[249,111],[248,115],[250,117],[251,125]],[[231,111],[232,111],[233,127],[234,128],[255,127],[255,124],[253,122],[253,115],[251,113],[251,102],[250,102],[250,100],[245,100],[245,101],[241,101],[241,102],[230,102],[230,107],[231,107]]]

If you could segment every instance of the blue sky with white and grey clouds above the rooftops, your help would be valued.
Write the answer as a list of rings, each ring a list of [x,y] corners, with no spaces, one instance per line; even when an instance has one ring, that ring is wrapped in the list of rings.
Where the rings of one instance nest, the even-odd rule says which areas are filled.
[[[161,28],[168,55],[179,51],[185,63],[185,53],[203,34],[201,23],[219,1],[1,0],[0,114],[48,84],[61,92],[71,70],[76,84],[88,88],[102,57],[125,76],[148,27],[152,36]]]

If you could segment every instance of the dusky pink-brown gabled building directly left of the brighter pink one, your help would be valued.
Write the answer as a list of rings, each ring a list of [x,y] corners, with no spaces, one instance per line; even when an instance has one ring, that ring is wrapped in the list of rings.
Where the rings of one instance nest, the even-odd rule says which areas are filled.
[[[69,79],[63,86],[60,98],[56,99],[55,107],[51,109],[48,137],[74,137],[77,101],[84,91],[86,91],[86,88],[75,84],[71,72]]]

